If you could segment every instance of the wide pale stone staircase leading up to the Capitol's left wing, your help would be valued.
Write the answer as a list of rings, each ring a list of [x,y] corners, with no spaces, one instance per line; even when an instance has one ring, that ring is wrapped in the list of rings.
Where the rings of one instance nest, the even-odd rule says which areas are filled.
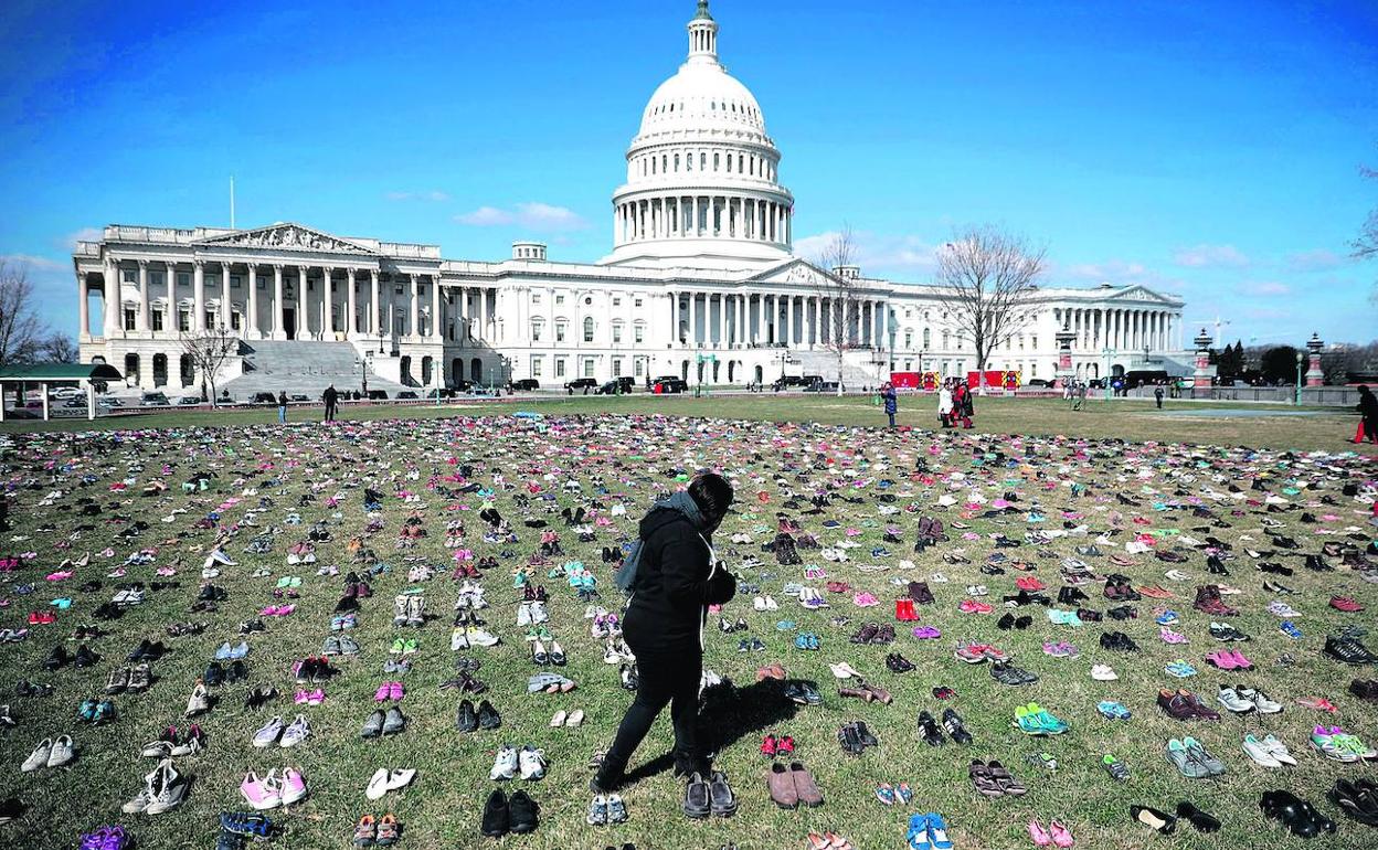
[[[368,361],[351,343],[311,340],[251,340],[240,343],[243,375],[223,384],[230,395],[245,400],[255,393],[303,393],[320,398],[325,387],[360,390]],[[369,371],[369,390],[386,390],[395,398],[401,384]]]

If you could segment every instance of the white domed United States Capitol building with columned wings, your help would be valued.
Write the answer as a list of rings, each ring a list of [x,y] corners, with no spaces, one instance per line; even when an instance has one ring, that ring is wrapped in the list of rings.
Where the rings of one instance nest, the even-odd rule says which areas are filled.
[[[827,280],[841,276],[857,298],[843,383],[875,384],[892,369],[974,369],[971,340],[941,289],[794,255],[780,149],[757,99],[718,59],[707,0],[688,30],[688,59],[656,88],[627,149],[626,182],[612,193],[612,251],[598,262],[559,262],[536,241],[491,262],[298,223],[110,225],[73,255],[81,360],[172,394],[201,383],[182,338],[226,328],[241,344],[218,383],[236,397],[327,380],[357,387],[350,376],[365,375],[373,387],[836,380]],[[1035,320],[988,368],[1054,377],[1054,335],[1065,326],[1079,376],[1184,371],[1189,340],[1175,296],[1101,284],[1043,287],[1036,298]]]

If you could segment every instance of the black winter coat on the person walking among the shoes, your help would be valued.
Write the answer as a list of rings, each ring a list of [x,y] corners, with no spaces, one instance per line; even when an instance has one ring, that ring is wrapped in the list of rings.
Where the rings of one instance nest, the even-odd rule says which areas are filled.
[[[627,646],[638,656],[701,659],[708,606],[730,601],[737,580],[714,566],[707,540],[679,511],[650,511],[639,532],[641,565],[621,625]]]

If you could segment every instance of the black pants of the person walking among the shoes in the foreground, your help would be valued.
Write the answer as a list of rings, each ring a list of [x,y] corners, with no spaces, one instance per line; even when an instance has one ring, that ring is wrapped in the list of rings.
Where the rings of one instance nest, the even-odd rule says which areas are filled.
[[[667,704],[670,722],[675,727],[675,766],[699,769],[699,681],[703,678],[703,657],[699,653],[637,656],[637,698],[617,726],[617,737],[608,749],[599,778],[620,778]]]

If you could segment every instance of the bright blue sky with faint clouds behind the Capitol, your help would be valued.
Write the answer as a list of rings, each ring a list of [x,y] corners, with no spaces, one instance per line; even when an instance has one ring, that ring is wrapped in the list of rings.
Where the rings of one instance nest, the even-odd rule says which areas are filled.
[[[692,0],[40,3],[0,11],[0,255],[76,328],[106,223],[295,220],[502,259],[610,249],[613,187]],[[220,4],[216,4],[220,6]],[[1372,339],[1378,4],[714,0],[796,198],[867,274],[955,226],[1047,245],[1050,285],[1142,282],[1258,343]]]

